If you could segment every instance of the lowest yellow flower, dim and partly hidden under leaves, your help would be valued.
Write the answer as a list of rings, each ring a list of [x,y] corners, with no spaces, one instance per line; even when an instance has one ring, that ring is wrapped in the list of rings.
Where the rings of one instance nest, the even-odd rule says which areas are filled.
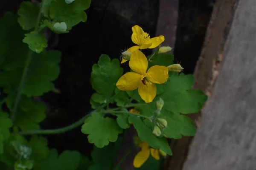
[[[150,154],[154,159],[159,160],[160,154],[163,156],[166,156],[166,153],[163,152],[163,150],[160,149],[154,149],[150,148],[147,142],[141,142],[139,144],[139,147],[141,147],[141,151],[137,153],[137,155],[134,157],[134,167],[139,168],[141,167],[145,161],[148,160]]]

